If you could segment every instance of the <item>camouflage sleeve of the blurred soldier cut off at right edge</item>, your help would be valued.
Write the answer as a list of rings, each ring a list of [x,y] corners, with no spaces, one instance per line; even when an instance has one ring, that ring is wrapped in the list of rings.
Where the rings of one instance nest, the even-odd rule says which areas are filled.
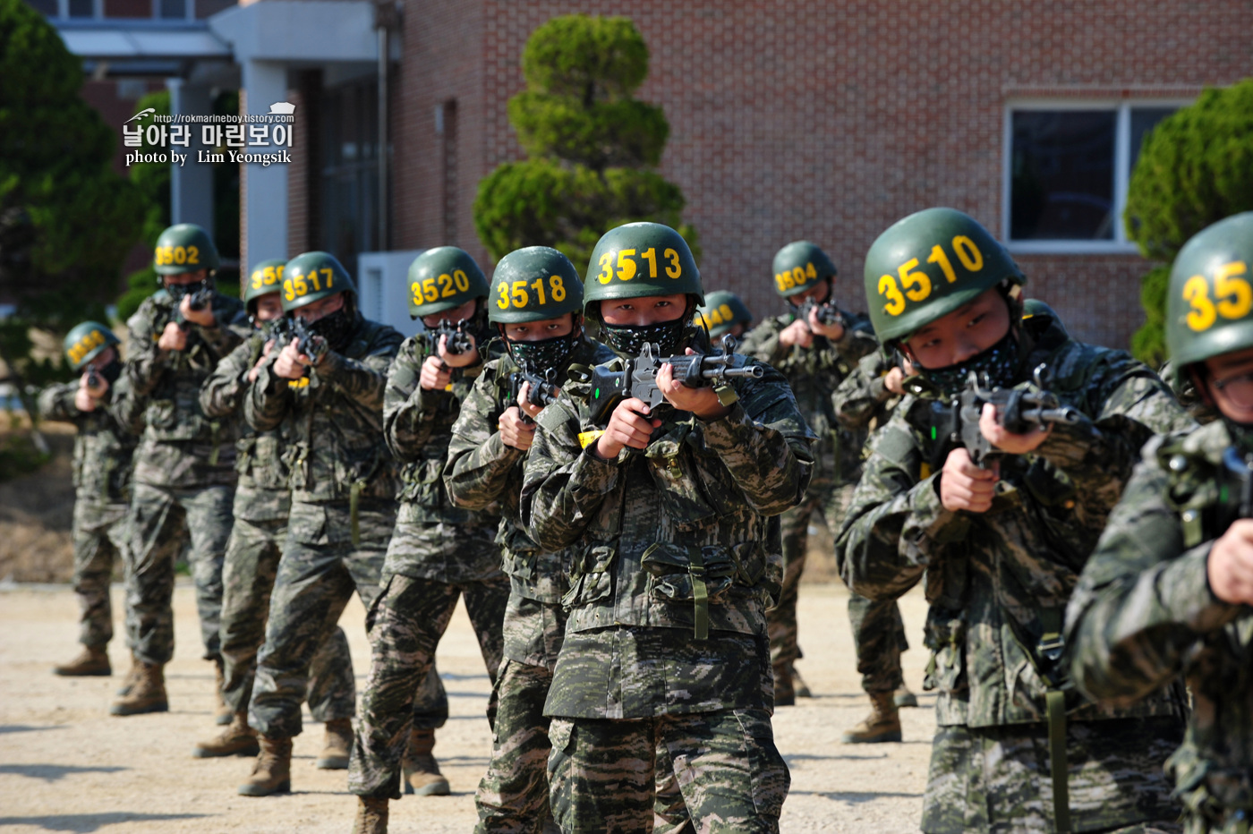
[[[1079,689],[1129,703],[1179,674],[1200,637],[1235,619],[1209,589],[1213,542],[1187,550],[1153,441],[1084,566],[1066,609],[1066,651]]]

